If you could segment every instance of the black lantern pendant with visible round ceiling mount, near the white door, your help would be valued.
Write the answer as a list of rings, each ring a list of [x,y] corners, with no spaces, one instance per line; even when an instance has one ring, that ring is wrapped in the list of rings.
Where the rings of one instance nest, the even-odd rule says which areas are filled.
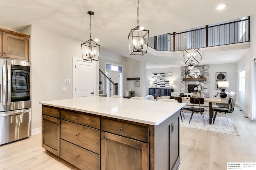
[[[85,61],[98,61],[100,54],[100,45],[92,40],[92,15],[94,15],[94,12],[88,11],[87,14],[90,15],[90,39],[81,44],[82,57]]]

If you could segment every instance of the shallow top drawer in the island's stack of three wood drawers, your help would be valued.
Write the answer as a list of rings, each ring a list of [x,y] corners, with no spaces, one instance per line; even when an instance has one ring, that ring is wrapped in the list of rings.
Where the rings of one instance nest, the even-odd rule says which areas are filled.
[[[61,110],[61,119],[72,121],[81,125],[90,126],[96,129],[100,129],[100,117],[94,117],[90,115],[85,115],[82,113],[75,113],[72,111]]]

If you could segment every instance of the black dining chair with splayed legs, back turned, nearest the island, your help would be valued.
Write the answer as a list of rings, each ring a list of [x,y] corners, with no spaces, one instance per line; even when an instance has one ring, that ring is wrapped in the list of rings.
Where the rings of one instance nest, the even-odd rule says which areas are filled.
[[[201,108],[201,105],[204,104],[204,98],[190,98],[190,103],[193,104],[193,107],[190,107],[190,109],[189,109],[190,111],[192,111],[189,123],[192,119],[194,112],[197,112],[197,113],[201,114],[202,120],[205,125],[204,114],[203,114],[204,108]],[[199,108],[198,108],[198,106],[195,106],[195,104],[199,105]]]

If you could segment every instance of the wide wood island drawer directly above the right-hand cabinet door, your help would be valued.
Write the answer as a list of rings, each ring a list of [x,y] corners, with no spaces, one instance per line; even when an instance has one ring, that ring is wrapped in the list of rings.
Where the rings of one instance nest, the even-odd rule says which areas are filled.
[[[110,119],[102,119],[102,131],[114,133],[124,137],[149,142],[149,127],[125,123]]]

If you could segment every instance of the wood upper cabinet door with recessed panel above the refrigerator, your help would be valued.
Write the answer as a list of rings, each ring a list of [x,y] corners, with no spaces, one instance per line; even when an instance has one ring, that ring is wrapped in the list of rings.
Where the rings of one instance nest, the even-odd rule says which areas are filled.
[[[3,57],[28,61],[28,38],[3,33]]]

